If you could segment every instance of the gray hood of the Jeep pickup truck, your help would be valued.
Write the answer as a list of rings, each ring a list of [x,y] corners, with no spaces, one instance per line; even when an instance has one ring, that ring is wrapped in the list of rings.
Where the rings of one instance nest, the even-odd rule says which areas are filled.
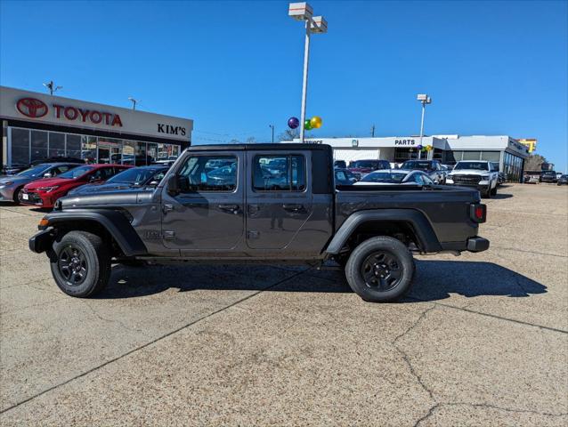
[[[89,191],[87,193],[76,193],[61,197],[59,201],[61,201],[62,209],[120,207],[150,201],[153,194],[154,188],[115,189],[103,192]]]

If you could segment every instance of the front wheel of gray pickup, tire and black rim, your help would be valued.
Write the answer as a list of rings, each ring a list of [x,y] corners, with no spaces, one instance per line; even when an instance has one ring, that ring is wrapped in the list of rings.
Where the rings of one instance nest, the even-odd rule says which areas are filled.
[[[110,255],[102,239],[86,231],[69,231],[53,243],[52,275],[61,291],[86,298],[101,292],[110,278]]]

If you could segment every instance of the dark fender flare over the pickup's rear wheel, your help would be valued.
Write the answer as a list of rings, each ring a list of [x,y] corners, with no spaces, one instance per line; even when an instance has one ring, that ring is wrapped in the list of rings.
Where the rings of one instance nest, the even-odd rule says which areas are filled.
[[[364,222],[384,221],[384,222],[405,222],[412,227],[420,250],[426,253],[440,252],[442,246],[426,216],[416,209],[373,209],[359,211],[349,215],[345,222],[337,230],[334,238],[329,242],[326,253],[337,255],[351,237],[354,230],[357,230]]]

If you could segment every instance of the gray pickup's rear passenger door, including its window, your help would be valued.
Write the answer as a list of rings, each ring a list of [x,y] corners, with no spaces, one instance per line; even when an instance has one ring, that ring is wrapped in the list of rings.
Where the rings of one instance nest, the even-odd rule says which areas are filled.
[[[247,246],[284,249],[312,215],[311,153],[247,151]]]

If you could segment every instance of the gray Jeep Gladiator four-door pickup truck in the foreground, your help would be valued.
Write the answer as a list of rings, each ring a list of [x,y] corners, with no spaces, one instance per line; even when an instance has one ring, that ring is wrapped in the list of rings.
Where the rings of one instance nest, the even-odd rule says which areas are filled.
[[[410,289],[412,253],[486,250],[485,214],[476,189],[336,187],[328,145],[193,146],[158,186],[61,198],[29,248],[76,297],[112,263],[333,260],[363,300],[387,302]]]

